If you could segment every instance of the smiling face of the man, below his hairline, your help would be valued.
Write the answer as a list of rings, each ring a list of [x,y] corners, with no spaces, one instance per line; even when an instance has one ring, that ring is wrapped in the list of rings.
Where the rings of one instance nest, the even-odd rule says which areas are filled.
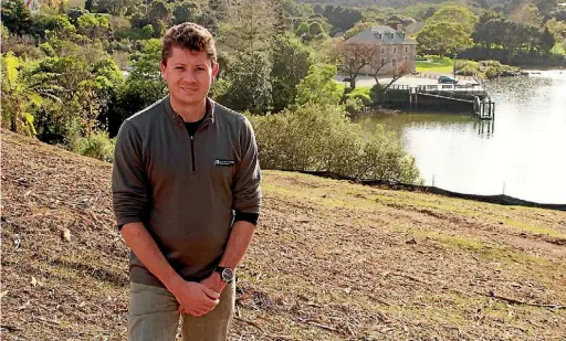
[[[205,51],[172,46],[167,65],[160,64],[171,99],[182,105],[198,105],[207,97],[218,73]]]

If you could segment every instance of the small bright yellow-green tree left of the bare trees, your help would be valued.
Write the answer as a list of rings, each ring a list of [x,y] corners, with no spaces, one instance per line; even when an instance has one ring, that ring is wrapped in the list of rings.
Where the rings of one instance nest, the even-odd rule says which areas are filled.
[[[311,65],[308,74],[296,86],[297,106],[308,103],[336,106],[342,99],[342,90],[334,82],[336,66]]]

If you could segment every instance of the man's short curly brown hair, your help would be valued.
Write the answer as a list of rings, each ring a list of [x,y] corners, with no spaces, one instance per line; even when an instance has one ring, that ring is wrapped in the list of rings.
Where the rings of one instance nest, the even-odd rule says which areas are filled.
[[[167,30],[161,49],[161,63],[167,65],[171,56],[172,46],[191,51],[205,51],[212,64],[217,63],[217,46],[212,34],[201,25],[184,22]]]

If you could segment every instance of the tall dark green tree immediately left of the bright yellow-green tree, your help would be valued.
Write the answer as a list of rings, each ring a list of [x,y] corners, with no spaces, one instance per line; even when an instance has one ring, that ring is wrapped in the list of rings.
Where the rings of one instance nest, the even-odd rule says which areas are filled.
[[[308,46],[293,36],[277,36],[274,43],[273,68],[271,70],[273,110],[275,113],[294,103],[296,85],[307,75],[312,64],[312,50]]]

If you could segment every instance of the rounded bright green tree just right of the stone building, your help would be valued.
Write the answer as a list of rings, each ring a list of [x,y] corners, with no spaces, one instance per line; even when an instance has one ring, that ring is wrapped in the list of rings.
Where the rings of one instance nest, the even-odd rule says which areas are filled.
[[[462,24],[453,22],[427,23],[417,34],[417,42],[421,50],[440,55],[454,54],[473,44]]]

